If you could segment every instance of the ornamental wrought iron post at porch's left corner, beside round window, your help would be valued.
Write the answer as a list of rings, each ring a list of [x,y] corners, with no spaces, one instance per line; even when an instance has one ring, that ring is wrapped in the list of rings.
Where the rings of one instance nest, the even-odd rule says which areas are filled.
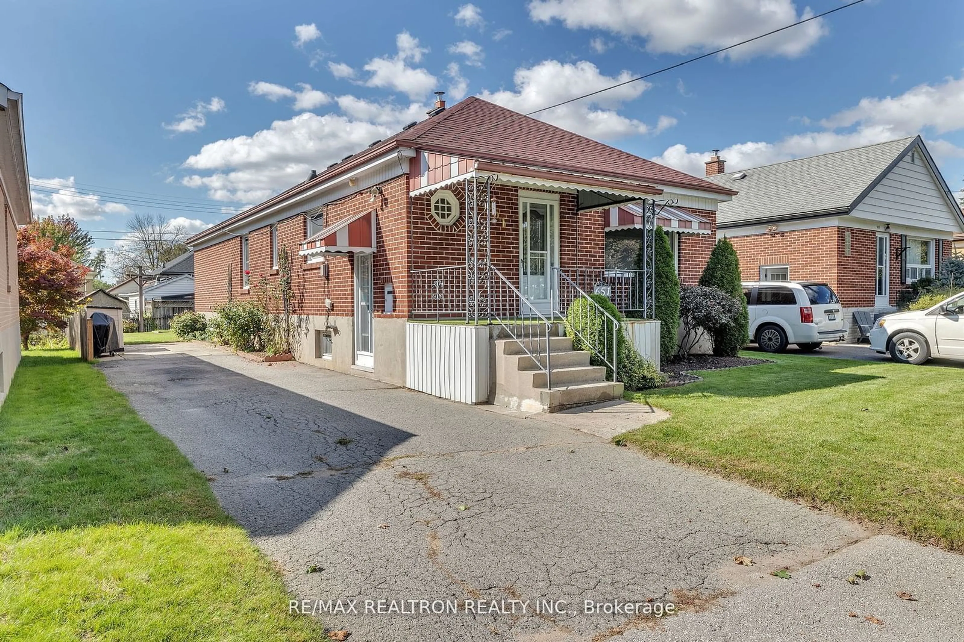
[[[492,183],[494,176],[466,178],[466,321],[491,313]]]

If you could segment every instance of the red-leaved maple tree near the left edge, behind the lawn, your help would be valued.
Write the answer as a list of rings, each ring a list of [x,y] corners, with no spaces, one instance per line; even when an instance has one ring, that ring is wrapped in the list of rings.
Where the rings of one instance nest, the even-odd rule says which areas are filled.
[[[20,339],[44,328],[67,327],[67,317],[80,308],[89,268],[73,261],[74,249],[56,246],[37,226],[16,232],[16,269],[20,290]]]

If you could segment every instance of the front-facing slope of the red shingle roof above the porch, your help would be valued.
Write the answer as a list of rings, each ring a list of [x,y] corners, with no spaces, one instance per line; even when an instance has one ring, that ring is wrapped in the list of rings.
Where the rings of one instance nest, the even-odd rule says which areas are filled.
[[[548,122],[470,96],[397,135],[399,142],[469,158],[500,160],[580,174],[736,194]]]

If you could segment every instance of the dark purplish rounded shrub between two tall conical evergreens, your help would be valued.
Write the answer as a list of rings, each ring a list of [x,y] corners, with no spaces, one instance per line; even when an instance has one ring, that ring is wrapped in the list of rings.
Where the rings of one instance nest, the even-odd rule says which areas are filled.
[[[689,352],[705,334],[710,335],[713,354],[718,355],[716,341],[720,337],[724,340],[728,338],[727,331],[738,323],[745,309],[746,300],[742,295],[737,300],[718,287],[684,287],[680,293],[680,318],[683,322],[680,354],[683,359],[689,357]]]

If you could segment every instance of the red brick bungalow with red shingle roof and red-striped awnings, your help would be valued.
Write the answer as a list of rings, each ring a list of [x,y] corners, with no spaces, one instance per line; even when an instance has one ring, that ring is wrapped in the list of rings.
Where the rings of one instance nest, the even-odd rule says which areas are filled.
[[[609,278],[616,208],[671,201],[688,230],[711,232],[717,203],[735,193],[476,97],[448,109],[440,97],[428,119],[189,239],[195,308],[253,298],[257,281],[276,278],[283,247],[294,255],[300,361],[478,401],[493,396],[489,335],[477,360],[415,363],[425,349],[413,342],[429,332],[415,319],[462,333],[451,322],[471,319],[476,300],[503,326],[558,318],[562,281]],[[711,244],[704,233],[700,255]],[[477,387],[427,389],[414,383],[419,368],[433,369],[437,388],[475,368]]]

